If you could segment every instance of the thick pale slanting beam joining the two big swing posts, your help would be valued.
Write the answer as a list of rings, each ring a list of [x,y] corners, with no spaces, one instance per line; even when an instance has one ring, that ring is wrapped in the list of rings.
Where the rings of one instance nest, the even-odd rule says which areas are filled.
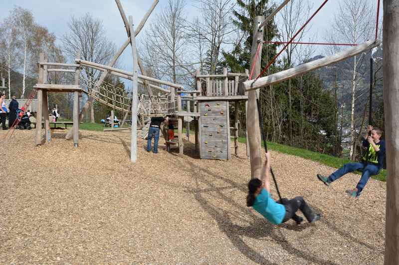
[[[381,44],[380,40],[370,40],[353,48],[350,48],[346,51],[342,51],[340,53],[324,57],[319,60],[315,60],[306,64],[298,65],[291,69],[278,72],[276,74],[272,74],[270,76],[261,77],[257,80],[248,80],[244,82],[244,88],[246,91],[254,90],[257,88],[263,88],[266,86],[270,86],[273,84],[281,83],[285,80],[291,79],[293,77],[303,75],[307,72],[319,69],[324,66],[328,66],[330,64],[338,63],[355,55],[358,55],[362,52],[368,51],[374,47],[377,47]],[[254,75],[257,76],[256,74]]]

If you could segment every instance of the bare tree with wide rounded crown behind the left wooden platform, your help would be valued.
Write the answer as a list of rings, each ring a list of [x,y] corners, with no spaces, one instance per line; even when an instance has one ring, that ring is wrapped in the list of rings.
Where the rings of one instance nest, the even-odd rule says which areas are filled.
[[[86,13],[82,17],[72,16],[68,23],[69,33],[62,37],[63,50],[70,58],[80,53],[83,60],[107,64],[115,54],[115,45],[105,37],[102,20]],[[91,90],[91,82],[99,79],[101,72],[84,67],[81,72],[86,88]],[[95,122],[93,105],[90,105],[90,121]]]

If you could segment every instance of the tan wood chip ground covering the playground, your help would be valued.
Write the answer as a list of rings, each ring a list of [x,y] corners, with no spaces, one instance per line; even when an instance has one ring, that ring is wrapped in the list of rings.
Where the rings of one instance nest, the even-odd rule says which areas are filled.
[[[34,130],[1,140],[1,264],[383,264],[385,182],[370,179],[352,199],[345,190],[359,175],[327,187],[316,174],[333,168],[272,152],[281,193],[322,214],[276,226],[245,206],[244,144],[216,161],[193,144],[167,153],[163,139],[147,153],[139,140],[132,164],[130,132],[81,130],[78,148],[65,134],[40,147]]]

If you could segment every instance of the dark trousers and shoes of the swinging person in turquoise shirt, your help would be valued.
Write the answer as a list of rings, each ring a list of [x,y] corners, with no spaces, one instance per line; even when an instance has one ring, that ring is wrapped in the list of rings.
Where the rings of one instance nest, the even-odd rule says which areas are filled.
[[[298,210],[301,210],[308,222],[312,222],[313,218],[315,218],[313,210],[309,207],[303,197],[297,196],[291,200],[283,198],[279,203],[285,206],[285,216],[282,221],[283,223],[287,222],[291,218],[297,222],[298,218],[300,218],[298,215],[296,215],[296,211]]]

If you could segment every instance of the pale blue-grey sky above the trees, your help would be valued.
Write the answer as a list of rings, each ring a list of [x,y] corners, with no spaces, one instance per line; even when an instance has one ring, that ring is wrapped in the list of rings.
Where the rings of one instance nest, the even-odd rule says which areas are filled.
[[[66,32],[68,32],[67,23],[72,15],[76,17],[83,16],[89,12],[96,18],[103,20],[104,28],[107,37],[112,40],[117,48],[119,48],[123,42],[126,41],[126,31],[124,23],[120,16],[118,7],[114,0],[0,0],[0,19],[6,17],[9,11],[14,6],[21,6],[30,10],[33,13],[35,21],[45,26],[50,32],[54,33],[59,40]],[[277,4],[280,4],[283,0],[275,0]],[[323,2],[323,0],[308,0],[312,3],[313,13]],[[326,5],[319,11],[319,13],[313,18],[312,26],[304,41],[309,38],[314,39],[316,36],[317,41],[323,41],[325,33],[329,30],[330,25],[334,19],[334,14],[338,10],[339,3],[343,0],[329,0]],[[377,0],[376,0],[377,2]],[[150,8],[153,0],[121,0],[122,6],[127,16],[132,15],[135,24],[140,23],[142,17]],[[159,13],[162,6],[167,4],[167,0],[160,0],[155,10],[151,14],[144,26],[144,32],[151,21],[154,19],[154,14]],[[195,1],[187,0],[187,18],[190,20],[191,17],[198,16],[199,13],[196,11]],[[371,21],[375,23],[374,21]],[[139,44],[141,41],[140,35],[137,37],[136,42]],[[322,48],[316,50],[316,54],[323,53]],[[131,71],[132,66],[132,52],[131,49],[126,49],[124,54],[119,60],[121,68]]]

